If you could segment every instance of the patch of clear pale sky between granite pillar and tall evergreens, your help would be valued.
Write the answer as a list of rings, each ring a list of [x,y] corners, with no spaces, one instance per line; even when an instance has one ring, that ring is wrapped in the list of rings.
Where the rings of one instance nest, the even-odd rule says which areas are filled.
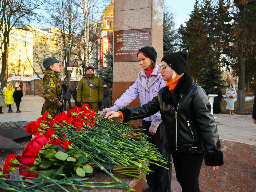
[[[176,28],[178,28],[181,24],[183,24],[187,19],[189,19],[189,15],[193,10],[195,5],[195,0],[166,0],[166,5],[169,6],[171,11],[174,13]]]

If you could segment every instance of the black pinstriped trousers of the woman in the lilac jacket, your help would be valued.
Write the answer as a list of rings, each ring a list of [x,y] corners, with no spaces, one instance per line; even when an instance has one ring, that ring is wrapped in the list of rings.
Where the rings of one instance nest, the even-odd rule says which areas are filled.
[[[151,135],[149,133],[150,125],[150,121],[142,120],[142,126],[144,127],[144,129],[146,129],[143,131],[143,133],[151,137],[147,138],[147,140],[150,143],[156,145],[156,148],[159,148],[158,151],[161,155],[163,155],[163,158],[165,158],[166,161],[171,162],[171,155],[167,153],[164,148],[165,134],[163,124],[159,124],[155,135]],[[146,175],[147,184],[149,185],[149,187],[157,188],[158,191],[171,192],[171,163],[167,163],[167,165],[163,163],[159,164],[169,168],[169,170],[155,164],[150,164],[149,168],[154,172],[150,172],[149,175]]]

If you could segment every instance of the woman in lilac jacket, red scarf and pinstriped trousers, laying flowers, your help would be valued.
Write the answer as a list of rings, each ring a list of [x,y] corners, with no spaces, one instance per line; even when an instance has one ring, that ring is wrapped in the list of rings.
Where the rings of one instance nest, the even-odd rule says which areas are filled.
[[[136,82],[115,101],[113,107],[103,109],[103,115],[108,114],[110,111],[119,111],[119,109],[129,105],[138,96],[142,106],[157,96],[159,90],[166,86],[166,81],[163,80],[161,73],[159,73],[161,65],[155,63],[157,58],[155,49],[153,47],[142,47],[139,49],[137,57],[143,69],[139,72]],[[159,148],[160,154],[163,155],[166,161],[171,162],[171,155],[164,149],[164,129],[160,111],[150,117],[144,118],[142,120],[142,126],[146,129],[144,130],[144,134],[151,137],[147,138],[148,141],[156,145],[156,148]],[[171,163],[165,166],[171,170]],[[171,171],[154,164],[150,165],[150,169],[154,173],[150,172],[149,175],[146,175],[149,187],[144,192],[171,191]]]

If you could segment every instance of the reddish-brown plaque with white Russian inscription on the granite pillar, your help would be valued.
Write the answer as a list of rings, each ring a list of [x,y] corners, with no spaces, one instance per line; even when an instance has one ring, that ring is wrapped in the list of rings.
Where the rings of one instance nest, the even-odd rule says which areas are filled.
[[[114,62],[138,61],[141,47],[151,46],[151,28],[115,31]]]

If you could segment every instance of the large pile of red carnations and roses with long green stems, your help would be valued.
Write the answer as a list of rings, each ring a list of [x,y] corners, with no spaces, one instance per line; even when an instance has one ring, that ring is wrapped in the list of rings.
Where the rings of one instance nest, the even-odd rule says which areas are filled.
[[[0,172],[2,189],[8,184],[5,182],[5,186],[1,185],[1,177],[9,179],[10,172],[18,170],[18,183],[24,184],[22,179],[33,179],[25,182],[30,183],[30,189],[35,189],[31,183],[37,186],[35,180],[39,181],[38,179],[46,180],[46,184],[58,179],[61,182],[57,186],[63,188],[59,183],[71,185],[74,181],[78,182],[77,179],[84,179],[82,177],[98,171],[109,174],[117,182],[116,185],[101,183],[105,187],[128,190],[129,186],[113,173],[144,179],[142,174],[150,172],[144,162],[159,166],[163,166],[159,163],[167,163],[154,146],[147,142],[146,136],[142,134],[142,127],[135,127],[131,122],[104,119],[88,105],[75,107],[54,118],[45,112],[37,122],[27,125],[27,133],[35,137],[21,156],[11,154],[7,157],[3,172]],[[83,184],[84,187],[91,186]]]

